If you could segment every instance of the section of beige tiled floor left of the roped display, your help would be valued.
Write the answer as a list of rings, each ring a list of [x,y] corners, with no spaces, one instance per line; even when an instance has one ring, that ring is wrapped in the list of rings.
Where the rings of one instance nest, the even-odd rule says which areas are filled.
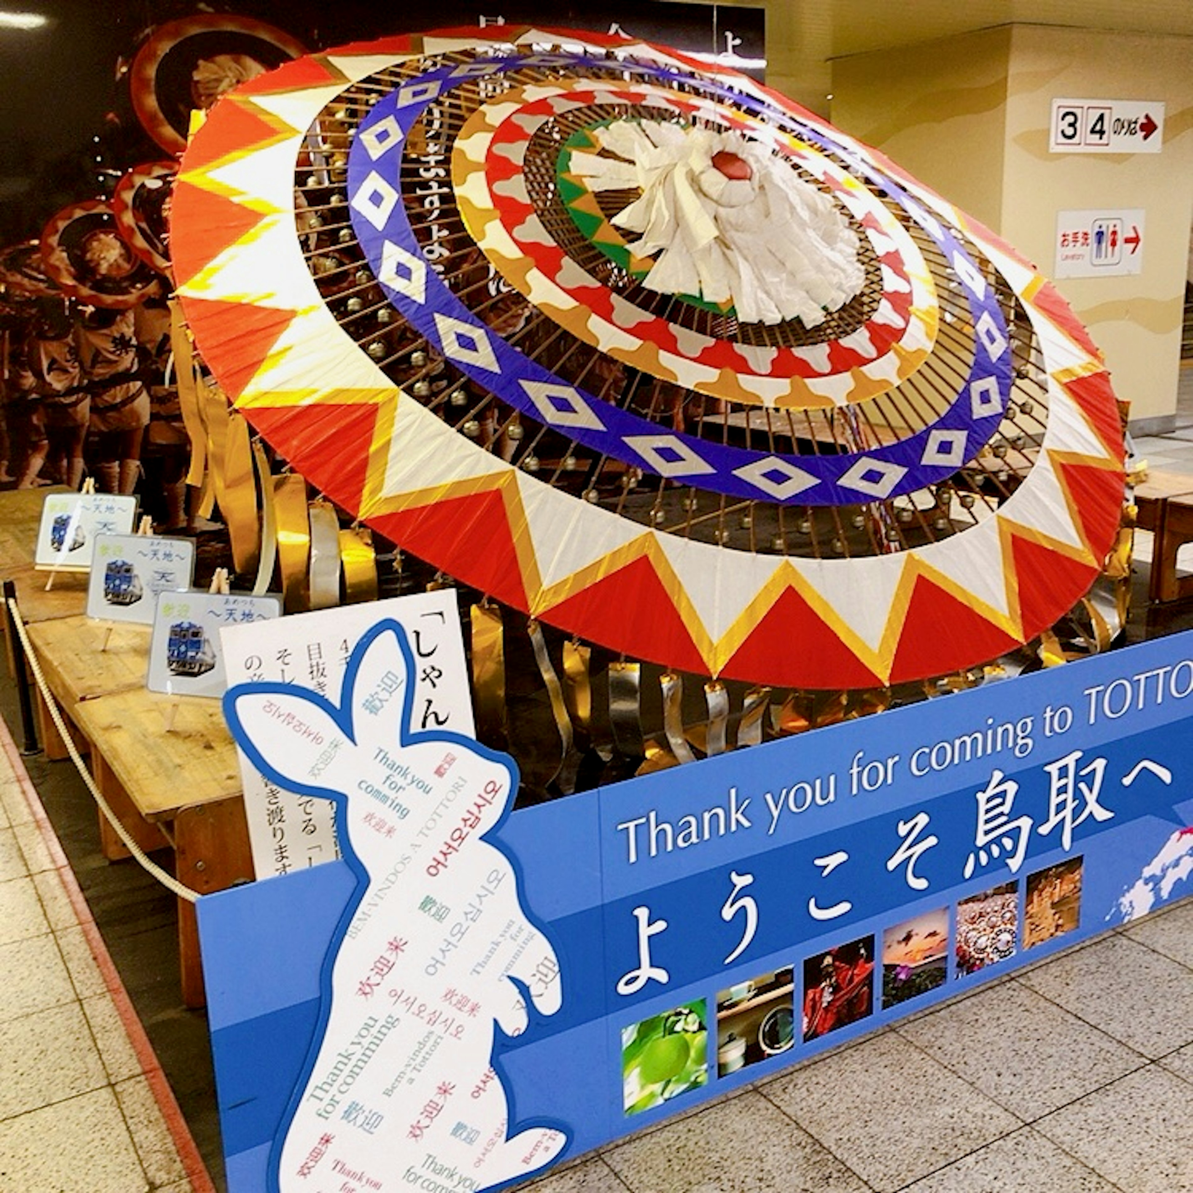
[[[0,1193],[211,1193],[0,725]]]

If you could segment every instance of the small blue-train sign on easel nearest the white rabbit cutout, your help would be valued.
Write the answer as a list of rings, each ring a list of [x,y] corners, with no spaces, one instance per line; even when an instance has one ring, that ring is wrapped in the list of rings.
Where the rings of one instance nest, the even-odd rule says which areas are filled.
[[[146,686],[167,696],[218,699],[229,687],[220,631],[229,625],[259,630],[280,616],[277,596],[159,593]]]

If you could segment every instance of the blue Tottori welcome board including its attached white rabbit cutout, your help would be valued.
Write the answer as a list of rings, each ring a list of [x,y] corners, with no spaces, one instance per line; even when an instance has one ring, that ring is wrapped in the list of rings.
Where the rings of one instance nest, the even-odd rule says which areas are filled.
[[[513,814],[410,667],[225,699],[345,848],[198,904],[231,1193],[500,1188],[1193,890],[1193,635]]]

